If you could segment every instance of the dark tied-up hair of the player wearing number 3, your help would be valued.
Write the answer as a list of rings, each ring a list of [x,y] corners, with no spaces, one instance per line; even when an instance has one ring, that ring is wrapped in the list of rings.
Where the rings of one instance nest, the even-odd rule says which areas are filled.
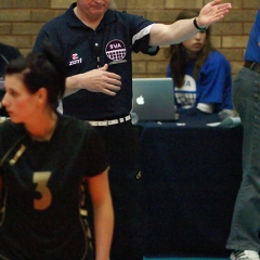
[[[26,57],[20,56],[11,61],[5,75],[21,74],[23,82],[30,93],[40,88],[48,91],[48,102],[56,106],[65,92],[66,65],[63,57],[50,46],[44,46],[42,52],[30,52]]]

